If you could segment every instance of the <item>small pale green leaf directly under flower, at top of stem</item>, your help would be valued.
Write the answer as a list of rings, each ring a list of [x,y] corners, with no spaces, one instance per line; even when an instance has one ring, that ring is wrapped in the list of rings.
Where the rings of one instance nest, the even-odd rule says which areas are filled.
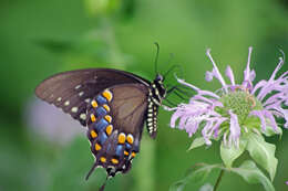
[[[246,146],[247,139],[240,139],[239,148],[236,148],[234,145],[232,147],[227,147],[222,142],[220,156],[224,165],[227,168],[232,168],[233,162],[245,151]]]

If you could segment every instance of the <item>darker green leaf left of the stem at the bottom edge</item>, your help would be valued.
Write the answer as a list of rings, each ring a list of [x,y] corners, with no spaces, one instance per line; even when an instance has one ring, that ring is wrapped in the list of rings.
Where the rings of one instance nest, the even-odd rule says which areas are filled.
[[[206,163],[198,163],[195,165],[194,168],[189,169],[184,177],[184,179],[173,183],[169,187],[169,191],[183,191],[185,185],[188,182],[204,182],[205,179],[208,177],[210,171],[216,168],[222,168],[222,166],[218,165],[206,165]]]

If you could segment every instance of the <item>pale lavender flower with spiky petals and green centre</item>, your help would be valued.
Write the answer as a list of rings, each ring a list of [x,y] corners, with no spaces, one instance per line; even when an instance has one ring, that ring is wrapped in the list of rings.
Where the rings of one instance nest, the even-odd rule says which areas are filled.
[[[210,50],[206,54],[209,57],[213,70],[206,72],[206,81],[217,78],[222,88],[215,93],[203,91],[184,79],[177,82],[196,92],[188,104],[179,104],[177,107],[167,108],[174,110],[171,118],[171,127],[176,126],[185,129],[188,136],[195,135],[202,129],[202,137],[206,145],[212,145],[212,139],[223,137],[226,146],[239,147],[241,135],[257,132],[265,134],[272,129],[279,134],[276,117],[286,120],[284,127],[288,128],[288,72],[286,71],[278,78],[276,74],[284,64],[284,59],[272,72],[268,81],[260,81],[254,85],[256,73],[250,70],[251,47],[248,51],[248,61],[244,71],[244,79],[236,84],[232,67],[226,68],[226,76],[230,83],[226,83],[214,62]]]

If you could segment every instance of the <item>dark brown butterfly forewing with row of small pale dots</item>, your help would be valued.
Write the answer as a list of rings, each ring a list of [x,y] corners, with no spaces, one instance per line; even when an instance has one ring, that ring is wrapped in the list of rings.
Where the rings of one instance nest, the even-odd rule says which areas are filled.
[[[104,88],[124,83],[150,82],[132,73],[111,68],[88,68],[55,74],[37,88],[39,98],[69,113],[83,126],[86,125],[86,106]]]

